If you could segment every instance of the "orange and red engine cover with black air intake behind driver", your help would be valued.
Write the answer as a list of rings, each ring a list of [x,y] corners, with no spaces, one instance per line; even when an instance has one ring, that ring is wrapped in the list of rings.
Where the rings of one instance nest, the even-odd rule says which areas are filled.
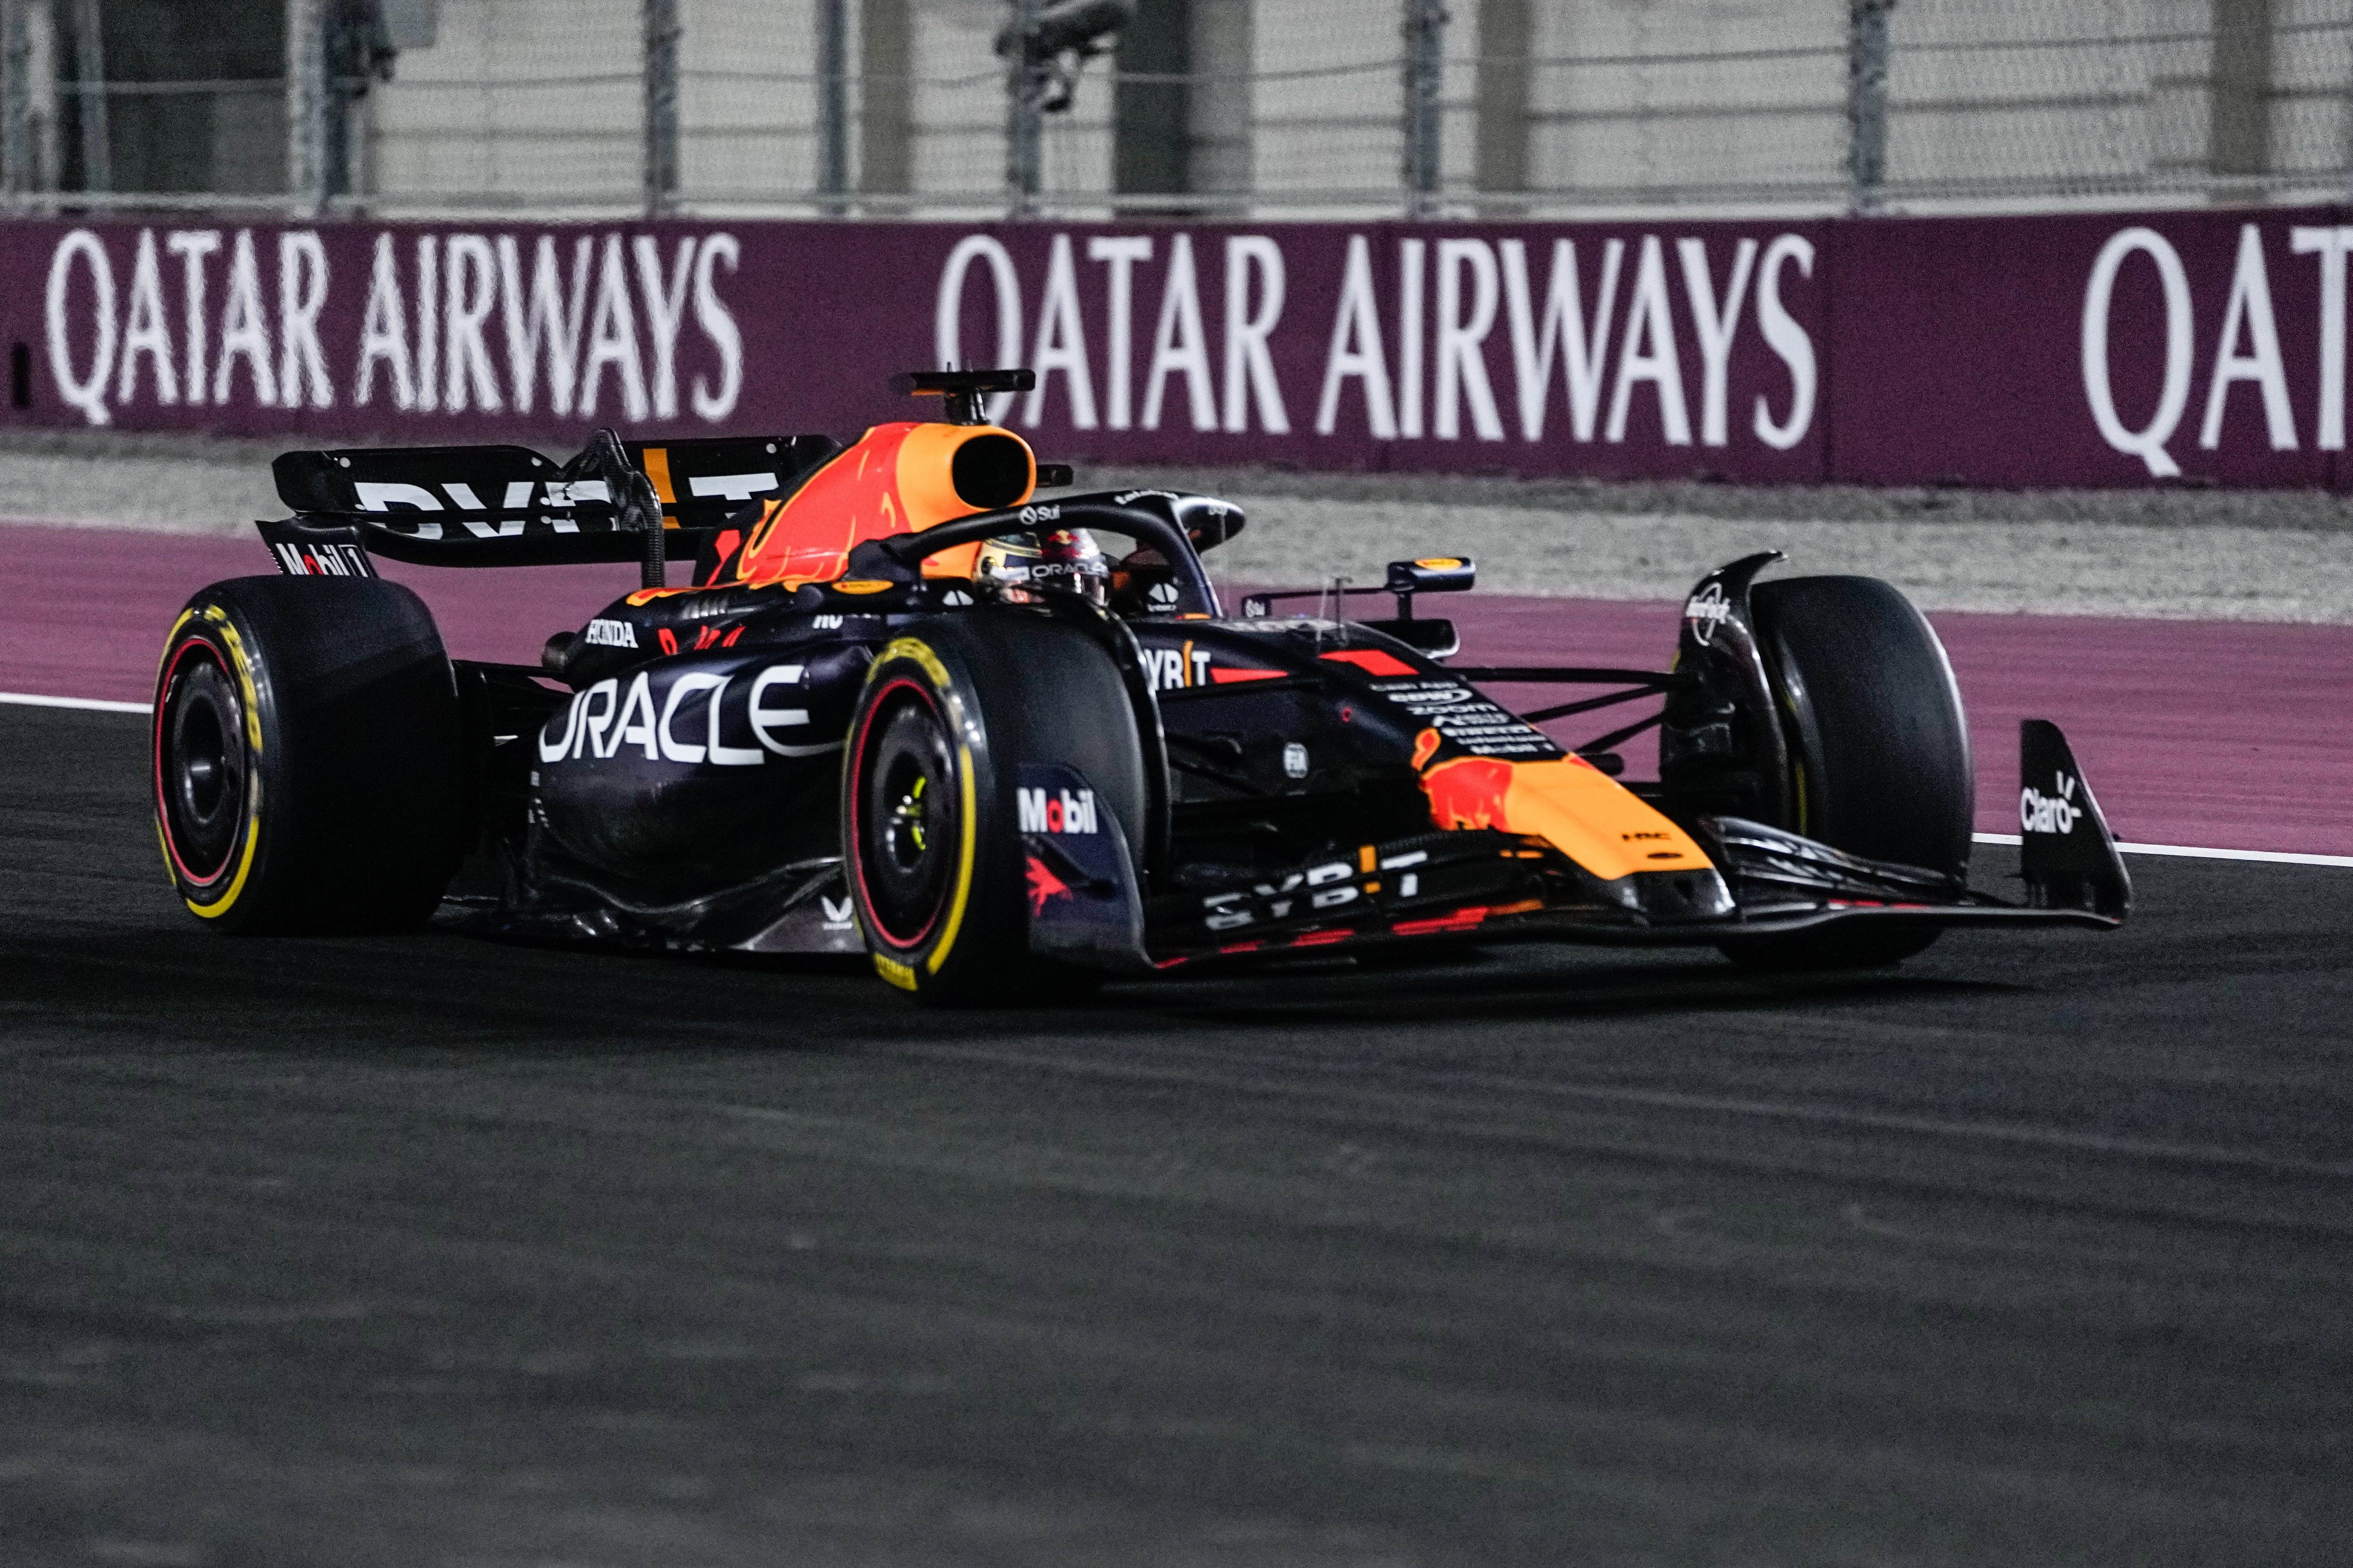
[[[1021,505],[1038,489],[1038,458],[1012,430],[995,425],[875,425],[809,475],[784,501],[769,501],[736,557],[736,581],[767,585],[831,583],[868,538],[922,529]],[[925,576],[969,576],[979,545],[934,555]]]

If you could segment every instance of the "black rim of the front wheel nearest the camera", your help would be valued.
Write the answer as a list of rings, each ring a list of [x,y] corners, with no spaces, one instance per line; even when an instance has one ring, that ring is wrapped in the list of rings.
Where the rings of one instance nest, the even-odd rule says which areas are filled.
[[[859,745],[859,884],[875,929],[915,947],[955,889],[960,806],[955,750],[932,693],[913,682],[885,691]]]

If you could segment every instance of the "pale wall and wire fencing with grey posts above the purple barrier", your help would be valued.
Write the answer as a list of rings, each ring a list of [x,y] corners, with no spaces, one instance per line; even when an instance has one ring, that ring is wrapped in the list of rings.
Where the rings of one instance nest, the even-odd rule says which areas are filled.
[[[16,212],[1264,221],[2313,202],[2353,167],[2353,0],[1125,0],[1099,54],[998,52],[1073,7],[0,0],[0,169]]]

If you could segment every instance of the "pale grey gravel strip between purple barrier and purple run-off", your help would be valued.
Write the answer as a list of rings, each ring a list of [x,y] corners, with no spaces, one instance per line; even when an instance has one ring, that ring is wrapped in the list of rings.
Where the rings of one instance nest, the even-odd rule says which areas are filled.
[[[548,451],[555,447],[548,444]],[[0,433],[0,515],[245,534],[280,510],[275,444]],[[2353,623],[2353,501],[2315,491],[1922,491],[1588,484],[1087,465],[1089,489],[1219,494],[1249,529],[1221,578],[1374,583],[1381,562],[1464,552],[1480,585],[1673,599],[1718,562],[1861,571],[1927,609]]]

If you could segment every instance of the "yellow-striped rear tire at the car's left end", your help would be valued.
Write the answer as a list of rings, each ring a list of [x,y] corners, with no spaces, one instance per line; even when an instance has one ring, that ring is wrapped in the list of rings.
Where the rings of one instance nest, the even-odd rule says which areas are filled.
[[[155,835],[238,936],[424,924],[464,832],[459,696],[424,602],[376,578],[231,578],[155,677]]]

